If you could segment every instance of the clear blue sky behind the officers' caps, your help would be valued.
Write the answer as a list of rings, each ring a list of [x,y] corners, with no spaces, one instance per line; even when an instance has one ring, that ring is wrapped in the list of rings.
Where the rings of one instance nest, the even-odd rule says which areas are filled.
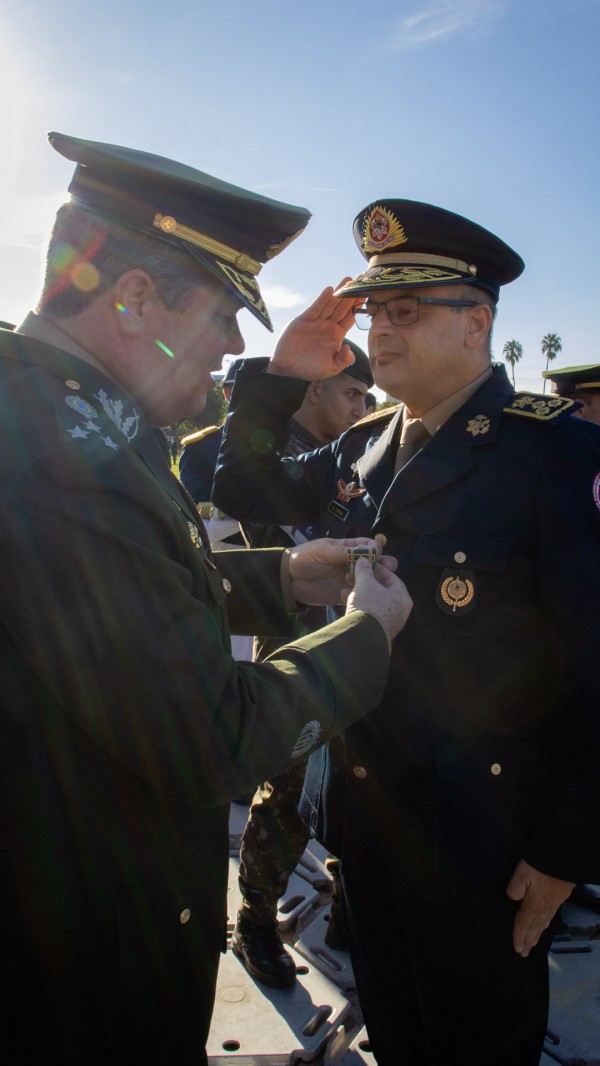
[[[181,160],[309,208],[261,274],[276,334],[357,273],[352,222],[384,197],[425,200],[525,260],[493,354],[524,350],[517,387],[600,361],[600,0],[4,0],[0,16],[0,318],[38,290],[72,165],[47,131]],[[247,355],[274,337],[244,311]],[[353,330],[363,343],[363,335]]]

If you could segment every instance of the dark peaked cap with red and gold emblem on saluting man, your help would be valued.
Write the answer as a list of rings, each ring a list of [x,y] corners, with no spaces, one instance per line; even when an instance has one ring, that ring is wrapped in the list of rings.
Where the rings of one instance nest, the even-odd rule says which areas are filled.
[[[514,281],[524,270],[521,257],[487,229],[417,200],[369,204],[354,220],[354,239],[369,266],[338,289],[338,296],[467,284],[498,300],[500,286]]]

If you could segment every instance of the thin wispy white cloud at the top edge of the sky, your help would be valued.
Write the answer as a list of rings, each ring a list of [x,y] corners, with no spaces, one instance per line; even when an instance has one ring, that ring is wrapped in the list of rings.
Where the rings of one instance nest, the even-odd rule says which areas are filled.
[[[435,0],[395,22],[383,51],[421,48],[481,30],[501,13],[498,0]]]

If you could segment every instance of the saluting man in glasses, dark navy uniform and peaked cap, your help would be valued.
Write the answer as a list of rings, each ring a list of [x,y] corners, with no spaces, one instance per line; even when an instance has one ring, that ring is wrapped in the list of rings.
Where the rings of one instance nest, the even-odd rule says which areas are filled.
[[[537,1066],[551,924],[600,871],[600,434],[491,364],[523,269],[504,242],[409,200],[354,232],[363,273],[240,370],[214,499],[380,533],[415,599],[379,707],[345,733],[346,918],[377,1063]],[[306,379],[351,358],[345,301],[402,403],[280,458]]]

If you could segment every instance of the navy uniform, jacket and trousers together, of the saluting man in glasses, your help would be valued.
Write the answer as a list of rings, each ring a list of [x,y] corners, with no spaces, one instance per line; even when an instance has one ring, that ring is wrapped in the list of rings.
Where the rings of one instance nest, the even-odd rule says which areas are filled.
[[[600,431],[496,367],[395,477],[402,408],[288,461],[305,386],[263,366],[237,378],[217,505],[382,532],[415,600],[382,702],[345,732],[343,876],[377,1062],[533,1066],[546,960],[513,952],[505,887],[520,858],[600,879]]]

